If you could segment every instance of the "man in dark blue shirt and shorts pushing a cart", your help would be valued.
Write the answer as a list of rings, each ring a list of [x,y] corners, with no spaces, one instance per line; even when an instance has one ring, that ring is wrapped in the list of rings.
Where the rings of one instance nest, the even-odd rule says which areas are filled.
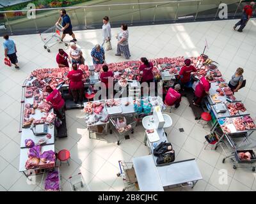
[[[67,15],[67,11],[65,9],[60,10],[60,18],[56,22],[56,25],[58,25],[60,23],[60,21],[61,21],[61,25],[63,27],[61,29],[61,31],[63,31],[62,36],[61,36],[61,41],[63,41],[66,34],[69,34],[70,36],[72,36],[73,40],[70,40],[70,42],[77,41],[76,36],[72,31],[72,24],[71,24],[70,17]]]

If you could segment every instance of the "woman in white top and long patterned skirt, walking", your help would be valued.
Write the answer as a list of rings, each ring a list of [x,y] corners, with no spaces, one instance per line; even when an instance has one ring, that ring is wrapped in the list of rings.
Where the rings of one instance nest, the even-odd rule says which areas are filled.
[[[126,24],[122,24],[121,31],[116,36],[118,43],[116,48],[116,56],[121,56],[121,53],[124,53],[125,59],[129,59],[131,57],[130,50],[129,50],[129,44],[128,44],[128,38],[129,38],[129,32],[128,32],[128,26]]]

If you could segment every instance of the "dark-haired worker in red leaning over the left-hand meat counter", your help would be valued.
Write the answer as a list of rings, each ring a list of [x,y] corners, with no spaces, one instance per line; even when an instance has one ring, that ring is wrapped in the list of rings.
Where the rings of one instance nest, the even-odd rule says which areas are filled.
[[[56,112],[56,115],[61,119],[65,119],[65,114],[64,114],[64,106],[65,106],[65,101],[61,97],[60,91],[57,89],[52,89],[49,85],[46,87],[46,92],[49,93],[49,96],[47,96],[46,101],[51,102],[52,107],[54,109],[54,112]]]

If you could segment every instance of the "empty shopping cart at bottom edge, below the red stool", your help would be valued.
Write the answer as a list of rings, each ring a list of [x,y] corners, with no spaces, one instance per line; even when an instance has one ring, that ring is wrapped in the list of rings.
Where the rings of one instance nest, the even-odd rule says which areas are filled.
[[[84,182],[83,175],[78,173],[68,178],[72,191],[91,191],[88,184]]]

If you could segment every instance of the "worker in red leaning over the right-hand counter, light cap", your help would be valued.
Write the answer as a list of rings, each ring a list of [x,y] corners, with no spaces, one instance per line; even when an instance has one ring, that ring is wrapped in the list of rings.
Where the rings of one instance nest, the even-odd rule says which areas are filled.
[[[195,98],[193,99],[193,105],[200,106],[202,99],[209,94],[211,88],[210,82],[213,80],[211,75],[202,77],[200,82],[196,85]]]

